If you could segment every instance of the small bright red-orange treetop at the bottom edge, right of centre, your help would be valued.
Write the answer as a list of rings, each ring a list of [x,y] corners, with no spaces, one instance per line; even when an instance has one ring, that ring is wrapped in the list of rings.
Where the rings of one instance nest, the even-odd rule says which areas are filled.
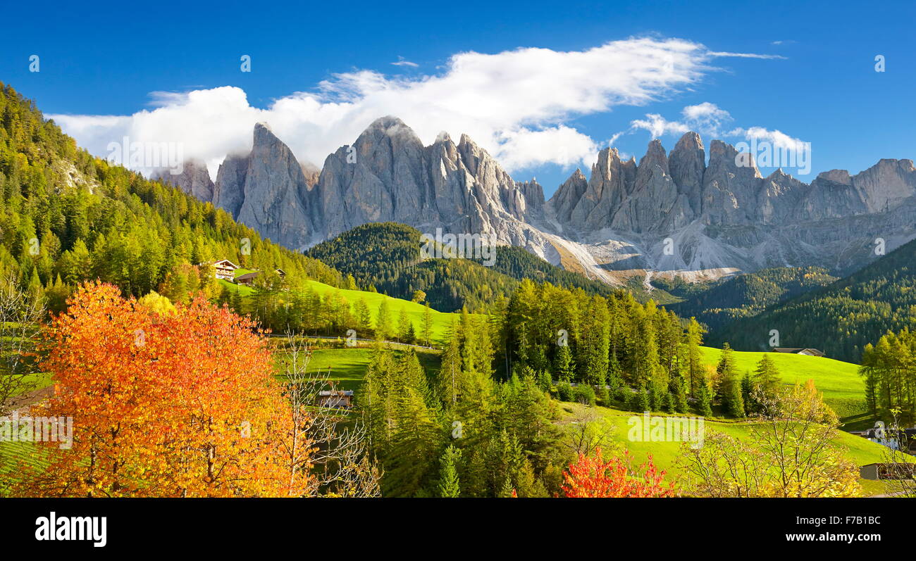
[[[601,448],[595,449],[594,456],[579,454],[579,459],[563,472],[563,494],[574,498],[674,496],[674,483],[665,484],[665,471],[656,469],[651,456],[636,473],[629,473],[628,451],[624,459],[605,461]]]

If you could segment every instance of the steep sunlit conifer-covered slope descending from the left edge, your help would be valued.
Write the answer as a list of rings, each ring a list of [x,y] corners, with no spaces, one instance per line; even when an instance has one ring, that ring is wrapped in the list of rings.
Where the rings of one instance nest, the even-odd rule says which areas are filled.
[[[222,209],[78,148],[33,102],[0,83],[0,276],[51,309],[83,280],[125,296],[218,290],[202,264],[230,259],[288,282],[339,286],[320,261],[262,240]],[[213,296],[213,295],[210,295]]]

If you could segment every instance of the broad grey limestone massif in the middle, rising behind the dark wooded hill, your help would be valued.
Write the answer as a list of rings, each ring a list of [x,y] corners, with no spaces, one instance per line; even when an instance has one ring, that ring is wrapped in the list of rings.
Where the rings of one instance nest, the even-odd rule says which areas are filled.
[[[442,134],[423,146],[395,117],[376,120],[353,146],[328,156],[314,190],[324,237],[365,222],[398,221],[525,244],[520,224],[544,206],[538,183],[514,181],[467,135],[455,144]]]

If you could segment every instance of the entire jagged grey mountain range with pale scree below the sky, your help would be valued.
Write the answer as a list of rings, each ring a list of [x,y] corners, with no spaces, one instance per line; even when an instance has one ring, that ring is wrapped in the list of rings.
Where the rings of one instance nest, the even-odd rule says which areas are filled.
[[[381,221],[420,232],[479,233],[551,264],[620,286],[634,275],[714,280],[769,267],[816,265],[846,274],[916,238],[916,169],[881,159],[810,184],[781,169],[762,177],[735,146],[687,133],[666,152],[624,160],[601,150],[550,200],[483,148],[442,133],[424,146],[396,117],[370,124],[319,170],[297,161],[267,124],[248,154],[226,156],[213,181],[199,161],[158,178],[213,202],[261,235],[303,250]]]

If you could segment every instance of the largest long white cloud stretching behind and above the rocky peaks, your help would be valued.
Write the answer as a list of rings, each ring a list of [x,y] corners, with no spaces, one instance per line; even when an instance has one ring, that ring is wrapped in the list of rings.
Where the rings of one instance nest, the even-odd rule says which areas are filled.
[[[226,154],[250,148],[257,122],[270,124],[300,161],[320,166],[325,156],[388,114],[400,117],[424,143],[442,130],[454,138],[466,133],[509,170],[587,164],[594,159],[595,143],[572,128],[573,118],[670,97],[717,70],[709,64],[717,56],[744,55],[713,53],[675,38],[628,38],[582,51],[463,52],[439,74],[334,74],[311,92],[289,94],[267,108],[253,107],[244,91],[225,86],[157,92],[152,109],[132,115],[52,117],[93,154],[105,156],[107,144],[125,135],[132,141],[180,142],[184,156],[203,159],[213,175]],[[662,121],[659,117],[648,127],[669,131],[675,126]]]

